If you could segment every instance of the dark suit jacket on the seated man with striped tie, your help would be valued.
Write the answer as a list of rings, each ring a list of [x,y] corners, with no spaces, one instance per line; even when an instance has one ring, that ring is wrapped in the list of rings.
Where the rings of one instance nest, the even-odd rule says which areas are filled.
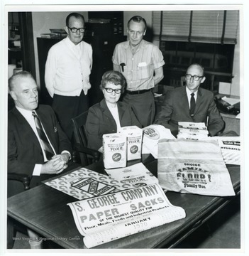
[[[52,108],[39,105],[35,111],[56,154],[63,150],[72,153],[70,141],[58,124]],[[44,164],[43,151],[31,126],[16,107],[13,107],[8,114],[8,172],[31,176],[35,164]]]

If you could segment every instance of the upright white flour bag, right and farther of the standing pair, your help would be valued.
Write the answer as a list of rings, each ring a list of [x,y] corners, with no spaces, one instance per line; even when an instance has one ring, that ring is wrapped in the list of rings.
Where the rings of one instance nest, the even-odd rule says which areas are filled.
[[[121,134],[127,137],[127,160],[141,158],[143,129],[137,126],[122,127]]]

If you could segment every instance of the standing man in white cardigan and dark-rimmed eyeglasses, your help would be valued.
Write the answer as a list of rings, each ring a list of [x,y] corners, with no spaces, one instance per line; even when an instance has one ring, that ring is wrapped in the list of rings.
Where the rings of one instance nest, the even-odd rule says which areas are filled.
[[[45,85],[52,108],[67,137],[72,141],[71,119],[88,110],[91,85],[92,46],[82,41],[84,17],[72,13],[66,18],[67,38],[52,46],[45,65]]]

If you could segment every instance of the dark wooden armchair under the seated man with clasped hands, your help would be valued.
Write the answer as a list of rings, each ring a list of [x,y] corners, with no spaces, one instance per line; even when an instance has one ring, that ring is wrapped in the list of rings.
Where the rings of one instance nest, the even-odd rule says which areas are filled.
[[[11,191],[11,194],[8,193],[9,196],[13,196],[16,193],[20,193],[21,191],[26,191],[30,188],[31,183],[31,177],[27,174],[8,174],[8,181],[18,181],[18,183],[22,183],[23,186],[21,186],[20,191],[18,191],[18,188],[16,189],[16,185],[13,185],[13,190]],[[8,182],[10,183],[10,182]],[[8,185],[9,186],[9,185]],[[7,217],[7,249],[13,248],[14,239],[16,237],[16,231],[21,230],[23,232],[23,227],[19,223],[16,223],[15,220],[12,220],[11,218]]]

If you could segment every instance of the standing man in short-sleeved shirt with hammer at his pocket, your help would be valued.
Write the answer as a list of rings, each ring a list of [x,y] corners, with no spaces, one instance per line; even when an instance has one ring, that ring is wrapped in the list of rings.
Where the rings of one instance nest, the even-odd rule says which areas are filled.
[[[153,124],[155,101],[152,89],[163,78],[165,64],[161,51],[153,43],[143,40],[147,24],[144,18],[133,16],[128,21],[128,41],[114,49],[114,70],[127,80],[123,102],[131,105],[143,127]]]

